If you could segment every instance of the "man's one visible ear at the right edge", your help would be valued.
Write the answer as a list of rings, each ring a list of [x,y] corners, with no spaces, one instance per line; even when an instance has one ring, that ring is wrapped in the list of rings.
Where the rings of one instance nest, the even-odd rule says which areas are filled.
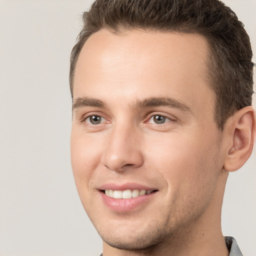
[[[225,170],[237,170],[249,158],[253,148],[255,122],[255,111],[251,106],[241,108],[227,121],[224,129],[231,136],[223,166]]]

